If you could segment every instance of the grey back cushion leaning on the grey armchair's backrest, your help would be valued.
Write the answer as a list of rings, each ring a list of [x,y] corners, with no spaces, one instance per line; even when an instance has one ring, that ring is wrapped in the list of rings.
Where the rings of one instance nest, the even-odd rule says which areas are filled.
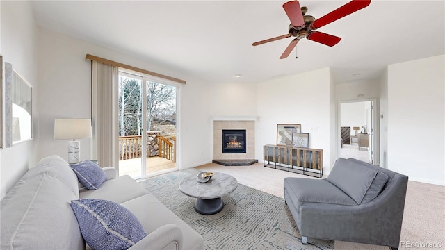
[[[357,204],[361,204],[377,173],[375,169],[338,158],[327,176],[327,181],[343,190]]]

